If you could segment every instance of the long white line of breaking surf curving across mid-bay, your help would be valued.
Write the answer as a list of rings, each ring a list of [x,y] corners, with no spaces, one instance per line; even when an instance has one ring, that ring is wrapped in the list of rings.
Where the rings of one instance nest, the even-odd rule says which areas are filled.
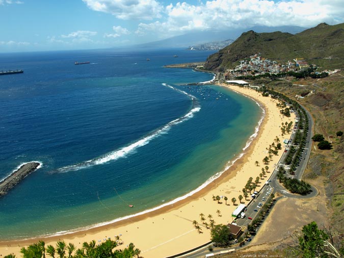
[[[139,139],[138,141],[136,141],[134,143],[131,143],[127,146],[124,146],[121,149],[109,152],[107,154],[104,154],[103,156],[100,156],[100,157],[97,157],[95,159],[88,160],[88,161],[85,161],[85,162],[82,162],[79,164],[74,164],[74,165],[69,165],[69,166],[65,166],[62,168],[58,168],[55,171],[51,171],[51,173],[54,173],[54,172],[66,173],[68,171],[75,171],[75,170],[88,168],[88,167],[95,166],[95,165],[101,165],[101,164],[104,164],[104,163],[107,163],[110,161],[115,161],[115,160],[118,160],[120,158],[125,158],[128,154],[134,153],[139,147],[142,147],[142,146],[145,146],[146,144],[148,144],[152,139],[154,139],[160,135],[166,134],[172,128],[173,125],[176,125],[178,123],[189,120],[190,118],[192,118],[194,116],[194,114],[196,112],[200,111],[201,108],[198,106],[197,98],[195,96],[193,96],[193,95],[191,95],[185,91],[176,89],[170,85],[167,85],[167,84],[163,84],[163,85],[190,97],[191,100],[193,101],[193,108],[187,114],[183,115],[182,117],[179,117],[175,120],[170,121],[169,123],[158,128],[157,130],[155,130],[151,134],[143,137],[142,139]]]

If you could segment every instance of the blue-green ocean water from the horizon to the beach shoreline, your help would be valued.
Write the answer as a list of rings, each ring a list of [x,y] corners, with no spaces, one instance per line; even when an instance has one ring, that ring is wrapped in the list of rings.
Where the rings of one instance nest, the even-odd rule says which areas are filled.
[[[41,163],[0,198],[0,239],[58,235],[142,214],[221,174],[252,139],[261,109],[219,86],[188,85],[214,74],[163,67],[212,53],[0,54],[0,70],[24,70],[0,76],[0,180],[23,163]]]

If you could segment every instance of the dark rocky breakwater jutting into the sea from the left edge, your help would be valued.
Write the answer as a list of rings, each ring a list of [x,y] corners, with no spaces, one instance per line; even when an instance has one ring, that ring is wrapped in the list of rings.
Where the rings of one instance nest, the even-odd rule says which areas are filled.
[[[4,180],[0,182],[0,197],[7,194],[15,185],[17,185],[24,177],[35,171],[40,163],[38,162],[29,162],[26,163]]]

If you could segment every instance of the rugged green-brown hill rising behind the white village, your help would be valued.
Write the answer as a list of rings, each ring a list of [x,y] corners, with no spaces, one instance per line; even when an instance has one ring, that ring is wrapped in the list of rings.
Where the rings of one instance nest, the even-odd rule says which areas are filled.
[[[208,57],[207,70],[224,71],[235,67],[237,61],[260,53],[262,57],[285,62],[304,58],[309,63],[328,68],[344,65],[344,23],[321,23],[295,35],[285,32],[243,33],[229,46]]]

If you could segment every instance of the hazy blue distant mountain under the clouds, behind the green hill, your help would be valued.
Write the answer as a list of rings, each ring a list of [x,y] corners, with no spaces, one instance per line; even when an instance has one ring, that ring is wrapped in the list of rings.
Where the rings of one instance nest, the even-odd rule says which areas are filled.
[[[296,26],[282,26],[282,27],[253,27],[249,30],[255,30],[256,32],[272,32],[281,31],[288,33],[298,33],[306,28],[296,27]],[[245,30],[246,31],[246,30]],[[244,32],[243,29],[231,29],[231,30],[218,30],[218,31],[202,31],[202,32],[191,32],[183,34],[180,36],[171,37],[164,40],[153,41],[150,43],[136,45],[140,48],[150,48],[150,47],[185,47],[188,48],[193,45],[200,45],[204,43],[214,42],[214,41],[225,41],[228,39],[235,40]]]

